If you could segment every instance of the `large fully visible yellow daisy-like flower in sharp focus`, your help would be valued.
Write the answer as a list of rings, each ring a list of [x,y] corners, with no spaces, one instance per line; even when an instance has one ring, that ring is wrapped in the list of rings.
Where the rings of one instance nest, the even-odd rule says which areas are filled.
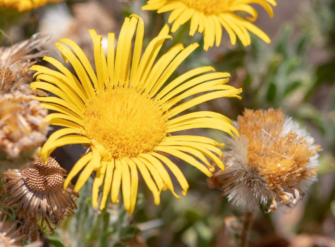
[[[132,38],[136,26],[132,54]],[[224,144],[205,137],[172,136],[170,133],[192,128],[213,128],[230,135],[231,131],[238,134],[231,120],[219,113],[200,111],[176,116],[210,99],[241,98],[237,94],[242,89],[224,85],[228,79],[222,77],[229,74],[217,72],[199,76],[214,70],[212,67],[202,67],[193,69],[166,85],[165,82],[179,64],[199,45],[195,43],[184,48],[182,44],[177,44],[154,63],[164,40],[171,38],[168,34],[169,27],[165,25],[140,58],[144,25],[143,20],[136,15],[125,19],[116,54],[115,34],[108,34],[107,60],[101,45],[102,36],[94,30],[89,32],[94,43],[96,75],[82,50],[66,38],[60,39],[60,42],[70,46],[75,54],[64,44],[58,42],[56,46],[65,61],[70,61],[79,80],[60,62],[50,57],[45,57],[44,60],[57,67],[61,73],[43,66],[31,67],[38,71],[35,74],[37,82],[31,83],[31,88],[45,89],[60,97],[37,97],[48,102],[41,103],[44,107],[60,112],[49,114],[47,121],[51,125],[67,127],[56,131],[47,140],[39,153],[42,162],[59,146],[75,143],[89,146],[87,153],[69,173],[64,188],[83,167],[85,168],[75,185],[75,191],[83,186],[92,171],[97,171],[92,192],[93,206],[98,205],[98,190],[104,180],[101,210],[105,207],[110,190],[112,202],[119,201],[122,183],[125,210],[130,215],[136,202],[137,169],[152,191],[155,204],[159,204],[161,190],[170,189],[179,198],[161,162],[170,168],[183,188],[183,195],[186,194],[188,183],[184,175],[165,154],[185,160],[208,176],[211,176],[210,171],[214,168],[205,156],[223,169],[222,161],[215,155],[221,157],[222,152],[215,146],[222,147]],[[205,93],[207,91],[211,92]],[[198,93],[202,94],[175,106],[182,99]],[[184,152],[197,157],[208,168]]]

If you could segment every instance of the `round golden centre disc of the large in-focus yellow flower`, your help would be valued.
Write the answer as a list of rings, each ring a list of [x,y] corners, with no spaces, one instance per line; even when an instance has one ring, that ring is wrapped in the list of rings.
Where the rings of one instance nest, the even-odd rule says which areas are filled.
[[[167,118],[159,100],[137,89],[116,87],[99,92],[86,105],[86,136],[114,159],[150,152],[166,136]]]

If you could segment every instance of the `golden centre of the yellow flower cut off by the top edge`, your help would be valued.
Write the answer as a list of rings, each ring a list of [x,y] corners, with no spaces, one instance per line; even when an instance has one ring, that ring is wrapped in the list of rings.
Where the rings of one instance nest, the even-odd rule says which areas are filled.
[[[232,0],[180,0],[190,8],[194,8],[206,15],[227,12]]]

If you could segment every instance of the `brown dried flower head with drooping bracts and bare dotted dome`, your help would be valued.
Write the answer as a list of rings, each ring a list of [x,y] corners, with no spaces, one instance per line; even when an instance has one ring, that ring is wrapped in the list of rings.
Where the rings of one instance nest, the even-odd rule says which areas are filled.
[[[1,204],[12,210],[17,208],[18,217],[27,219],[28,223],[41,217],[43,230],[46,229],[45,221],[54,232],[51,223],[69,217],[70,212],[77,209],[73,198],[78,198],[79,194],[73,191],[71,183],[63,189],[64,174],[66,171],[50,156],[47,164],[42,164],[37,157],[25,169],[8,170],[2,176],[5,183],[1,189]]]

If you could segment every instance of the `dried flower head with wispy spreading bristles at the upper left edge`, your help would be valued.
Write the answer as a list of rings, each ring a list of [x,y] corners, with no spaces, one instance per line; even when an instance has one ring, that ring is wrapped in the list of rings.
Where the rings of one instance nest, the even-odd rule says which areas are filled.
[[[29,54],[39,48],[50,38],[50,34],[36,33],[29,39],[16,43],[10,47],[0,47],[0,94],[21,90],[31,93],[28,83],[32,81],[29,68],[36,63],[32,59],[43,57],[46,51]],[[34,92],[46,96],[42,90]]]

